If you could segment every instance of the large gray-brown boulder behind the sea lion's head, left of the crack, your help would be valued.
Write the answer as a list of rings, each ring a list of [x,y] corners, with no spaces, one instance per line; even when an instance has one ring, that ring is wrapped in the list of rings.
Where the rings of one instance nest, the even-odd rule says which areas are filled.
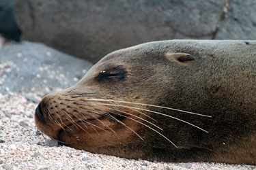
[[[211,39],[225,0],[15,0],[22,38],[96,63],[147,41]]]

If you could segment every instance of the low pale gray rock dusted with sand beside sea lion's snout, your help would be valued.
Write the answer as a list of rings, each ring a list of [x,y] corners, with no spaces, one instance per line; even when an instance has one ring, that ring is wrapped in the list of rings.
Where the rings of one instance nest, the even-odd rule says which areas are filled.
[[[91,63],[24,41],[0,48],[0,92],[28,92],[31,88],[52,92],[78,82]]]

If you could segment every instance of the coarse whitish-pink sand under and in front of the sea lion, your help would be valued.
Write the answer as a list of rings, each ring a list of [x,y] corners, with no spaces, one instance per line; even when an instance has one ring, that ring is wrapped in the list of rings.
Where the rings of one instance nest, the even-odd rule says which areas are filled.
[[[256,169],[220,163],[158,163],[50,147],[35,129],[38,92],[0,94],[0,169]],[[39,94],[42,95],[42,92]]]

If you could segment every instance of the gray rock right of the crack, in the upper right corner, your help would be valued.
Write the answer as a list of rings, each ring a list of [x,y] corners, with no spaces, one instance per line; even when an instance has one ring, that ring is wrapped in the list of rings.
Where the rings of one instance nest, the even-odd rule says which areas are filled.
[[[216,39],[256,39],[256,1],[230,0]]]

